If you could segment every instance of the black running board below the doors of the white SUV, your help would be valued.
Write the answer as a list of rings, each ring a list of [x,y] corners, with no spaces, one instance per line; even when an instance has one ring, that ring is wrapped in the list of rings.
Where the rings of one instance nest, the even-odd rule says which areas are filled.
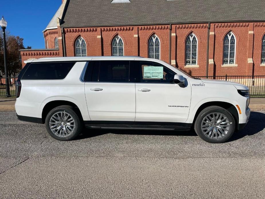
[[[93,129],[119,129],[119,130],[175,130],[189,131],[188,126],[169,126],[169,125],[145,125],[145,124],[85,124],[86,128]]]

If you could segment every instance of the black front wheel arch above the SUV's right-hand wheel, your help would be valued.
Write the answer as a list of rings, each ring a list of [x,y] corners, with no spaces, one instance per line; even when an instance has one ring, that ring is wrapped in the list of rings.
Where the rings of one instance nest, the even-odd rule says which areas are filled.
[[[195,116],[193,118],[193,125],[195,124],[195,120],[197,119],[199,113],[209,107],[209,106],[220,106],[224,109],[226,109],[229,113],[231,113],[231,115],[233,116],[233,118],[235,119],[235,129],[238,128],[238,124],[239,124],[239,115],[238,115],[238,111],[236,109],[236,107],[229,103],[229,102],[220,102],[220,101],[213,101],[213,102],[205,102],[204,104],[202,104],[196,111]]]

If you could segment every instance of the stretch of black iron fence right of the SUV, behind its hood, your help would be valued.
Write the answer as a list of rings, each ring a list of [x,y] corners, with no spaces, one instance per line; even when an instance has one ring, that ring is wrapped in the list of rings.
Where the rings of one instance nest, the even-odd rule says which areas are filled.
[[[206,76],[194,78],[207,78]],[[258,76],[208,76],[208,79],[217,79],[225,81],[233,81],[236,83],[244,84],[249,88],[252,97],[265,97],[265,75]]]

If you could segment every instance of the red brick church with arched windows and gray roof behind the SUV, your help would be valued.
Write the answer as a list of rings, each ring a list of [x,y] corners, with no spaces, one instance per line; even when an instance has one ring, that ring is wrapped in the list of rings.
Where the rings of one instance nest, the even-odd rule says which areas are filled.
[[[62,0],[43,34],[22,61],[142,56],[193,76],[265,75],[264,0]]]

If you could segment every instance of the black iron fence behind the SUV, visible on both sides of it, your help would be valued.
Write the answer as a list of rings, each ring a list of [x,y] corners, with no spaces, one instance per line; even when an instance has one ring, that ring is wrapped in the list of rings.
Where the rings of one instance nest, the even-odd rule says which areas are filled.
[[[206,76],[197,76],[194,78],[207,78]],[[250,95],[252,97],[265,97],[265,75],[259,76],[208,76],[208,79],[217,79],[225,81],[233,81],[236,83],[244,84],[250,89]],[[8,78],[10,95],[15,97],[15,82],[17,77]],[[0,97],[6,96],[6,79],[0,78]]]

